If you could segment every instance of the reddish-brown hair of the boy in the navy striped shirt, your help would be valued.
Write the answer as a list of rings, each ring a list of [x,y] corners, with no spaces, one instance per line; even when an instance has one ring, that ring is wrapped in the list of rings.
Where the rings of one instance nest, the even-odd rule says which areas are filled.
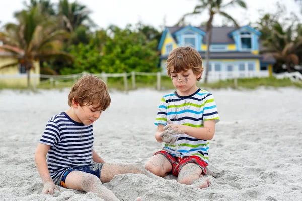
[[[103,80],[94,75],[85,75],[75,83],[68,95],[68,105],[72,100],[80,106],[94,105],[98,110],[106,110],[111,102],[108,88]]]

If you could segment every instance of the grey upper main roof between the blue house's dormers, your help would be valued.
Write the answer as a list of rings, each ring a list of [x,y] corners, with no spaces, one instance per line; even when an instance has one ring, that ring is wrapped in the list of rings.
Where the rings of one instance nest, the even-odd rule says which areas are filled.
[[[183,27],[167,27],[167,29],[169,30],[169,32],[173,35],[174,33],[176,33],[177,31],[185,28],[187,26],[183,26]],[[206,32],[206,27],[196,27],[204,32]],[[237,30],[238,28],[236,27],[213,27],[213,31],[212,31],[212,40],[211,43],[235,43],[233,38],[229,36],[229,34],[235,30]],[[176,38],[174,38],[175,41]],[[204,44],[206,43],[206,37],[203,37],[203,41]]]

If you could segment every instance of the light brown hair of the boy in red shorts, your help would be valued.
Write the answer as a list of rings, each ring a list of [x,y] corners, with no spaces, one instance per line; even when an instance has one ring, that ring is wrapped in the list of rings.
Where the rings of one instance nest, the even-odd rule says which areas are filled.
[[[192,47],[178,47],[169,54],[167,59],[167,73],[171,77],[171,73],[179,73],[192,69],[195,75],[202,73],[202,59],[197,50]],[[171,67],[173,71],[171,72]],[[197,78],[197,81],[201,76]]]

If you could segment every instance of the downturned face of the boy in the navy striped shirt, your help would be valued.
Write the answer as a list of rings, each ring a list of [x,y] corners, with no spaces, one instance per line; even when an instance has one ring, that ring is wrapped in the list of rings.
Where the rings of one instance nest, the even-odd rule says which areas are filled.
[[[78,103],[72,102],[74,113],[78,118],[78,122],[82,122],[85,125],[90,125],[101,116],[102,111],[94,108],[93,105],[86,105],[83,103],[80,106]],[[75,120],[77,121],[77,120]]]

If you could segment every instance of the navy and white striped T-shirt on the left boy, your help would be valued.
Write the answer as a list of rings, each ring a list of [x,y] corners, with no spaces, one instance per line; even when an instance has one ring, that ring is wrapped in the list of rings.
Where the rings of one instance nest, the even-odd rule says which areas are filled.
[[[47,166],[50,176],[59,185],[63,173],[70,167],[90,165],[93,129],[91,125],[75,122],[65,112],[50,118],[40,143],[50,145]]]

